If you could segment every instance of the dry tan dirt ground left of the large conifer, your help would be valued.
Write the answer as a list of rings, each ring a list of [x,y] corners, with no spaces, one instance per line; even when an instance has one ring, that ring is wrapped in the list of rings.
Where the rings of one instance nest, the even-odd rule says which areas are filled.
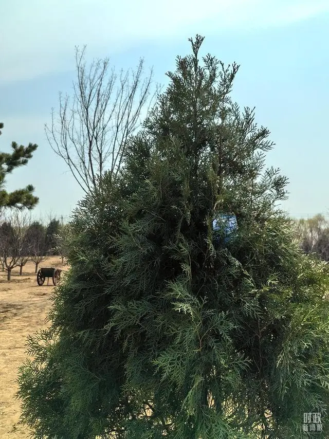
[[[62,266],[61,258],[50,257],[41,267]],[[1,439],[25,439],[29,437],[26,427],[18,425],[20,401],[14,398],[17,369],[26,360],[26,338],[39,328],[45,328],[45,318],[50,309],[50,293],[54,288],[47,278],[43,286],[36,283],[35,265],[28,262],[19,276],[19,268],[11,273],[0,271],[0,437]]]

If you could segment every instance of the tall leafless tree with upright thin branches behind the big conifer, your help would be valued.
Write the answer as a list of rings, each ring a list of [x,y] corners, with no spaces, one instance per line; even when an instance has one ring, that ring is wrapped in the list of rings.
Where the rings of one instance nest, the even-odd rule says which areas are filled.
[[[73,97],[60,94],[58,119],[52,110],[51,126],[45,125],[45,131],[53,151],[87,193],[99,186],[97,175],[106,169],[118,172],[127,139],[140,126],[143,109],[151,104],[158,87],[151,95],[153,71],[143,75],[142,59],[135,71],[121,70],[117,75],[109,70],[107,58],[87,67],[85,48],[76,47],[78,78]]]

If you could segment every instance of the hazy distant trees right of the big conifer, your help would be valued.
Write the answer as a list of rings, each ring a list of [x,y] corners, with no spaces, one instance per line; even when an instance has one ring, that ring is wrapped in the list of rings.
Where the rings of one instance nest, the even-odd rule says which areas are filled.
[[[329,261],[329,222],[321,215],[296,221],[300,246],[306,254],[316,254]]]

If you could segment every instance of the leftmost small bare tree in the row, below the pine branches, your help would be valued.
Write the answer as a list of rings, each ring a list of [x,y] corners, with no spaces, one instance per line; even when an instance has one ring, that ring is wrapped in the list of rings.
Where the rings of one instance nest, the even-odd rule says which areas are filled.
[[[12,211],[0,226],[0,253],[7,280],[11,279],[11,271],[20,265],[20,255],[26,233],[26,217],[19,211]]]

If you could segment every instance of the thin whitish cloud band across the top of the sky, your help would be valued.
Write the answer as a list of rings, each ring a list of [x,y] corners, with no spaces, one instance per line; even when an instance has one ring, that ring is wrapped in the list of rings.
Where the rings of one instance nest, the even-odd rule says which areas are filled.
[[[286,26],[327,11],[327,0],[13,0],[2,7],[0,82],[65,70],[75,45],[116,52],[187,32]]]

